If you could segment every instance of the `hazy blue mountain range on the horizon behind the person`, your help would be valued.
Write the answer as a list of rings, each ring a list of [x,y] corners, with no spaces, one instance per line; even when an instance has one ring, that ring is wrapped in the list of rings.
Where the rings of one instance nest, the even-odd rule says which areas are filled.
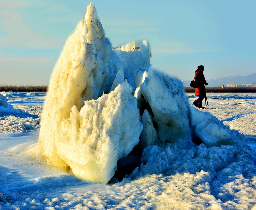
[[[206,80],[208,82],[207,87],[221,87],[224,85],[227,87],[227,84],[252,84],[256,82],[256,74],[251,74],[248,76],[229,76],[229,77],[222,77],[218,79],[211,79],[211,80]],[[191,81],[184,81],[184,87],[190,87],[190,82]]]

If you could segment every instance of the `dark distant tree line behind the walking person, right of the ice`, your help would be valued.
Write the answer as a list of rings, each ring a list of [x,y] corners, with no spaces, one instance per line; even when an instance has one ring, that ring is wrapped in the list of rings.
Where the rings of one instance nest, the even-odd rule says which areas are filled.
[[[185,88],[185,92],[194,93],[195,88]],[[206,87],[207,93],[256,93],[256,88],[251,87]]]

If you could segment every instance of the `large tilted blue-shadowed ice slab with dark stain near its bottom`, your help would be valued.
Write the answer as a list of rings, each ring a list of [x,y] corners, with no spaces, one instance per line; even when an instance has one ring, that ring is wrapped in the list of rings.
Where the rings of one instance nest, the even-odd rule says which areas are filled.
[[[191,135],[182,81],[150,68],[140,89],[138,100],[150,105],[160,140],[182,146]]]

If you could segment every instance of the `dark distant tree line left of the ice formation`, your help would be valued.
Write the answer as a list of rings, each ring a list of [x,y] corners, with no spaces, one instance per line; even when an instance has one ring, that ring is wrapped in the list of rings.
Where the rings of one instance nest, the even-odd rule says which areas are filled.
[[[0,85],[0,92],[47,92],[48,86]]]

